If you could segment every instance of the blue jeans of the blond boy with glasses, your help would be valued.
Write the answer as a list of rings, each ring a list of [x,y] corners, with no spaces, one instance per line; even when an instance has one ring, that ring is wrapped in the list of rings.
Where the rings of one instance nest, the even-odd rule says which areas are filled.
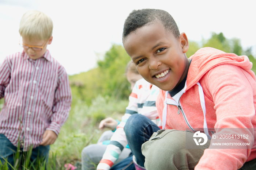
[[[14,165],[14,154],[17,152],[17,147],[14,146],[4,134],[0,134],[0,161],[2,164],[5,162],[3,158]],[[33,162],[38,156],[48,161],[50,146],[38,146],[32,150],[30,161]],[[20,148],[20,154],[23,154],[22,148]],[[39,155],[38,155],[39,154]]]

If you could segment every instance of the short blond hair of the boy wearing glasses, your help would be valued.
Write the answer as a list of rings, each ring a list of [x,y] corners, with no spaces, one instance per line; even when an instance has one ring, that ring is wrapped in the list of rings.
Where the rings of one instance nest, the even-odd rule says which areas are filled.
[[[20,20],[19,34],[29,40],[46,40],[52,36],[52,30],[52,19],[41,11],[28,11]]]

